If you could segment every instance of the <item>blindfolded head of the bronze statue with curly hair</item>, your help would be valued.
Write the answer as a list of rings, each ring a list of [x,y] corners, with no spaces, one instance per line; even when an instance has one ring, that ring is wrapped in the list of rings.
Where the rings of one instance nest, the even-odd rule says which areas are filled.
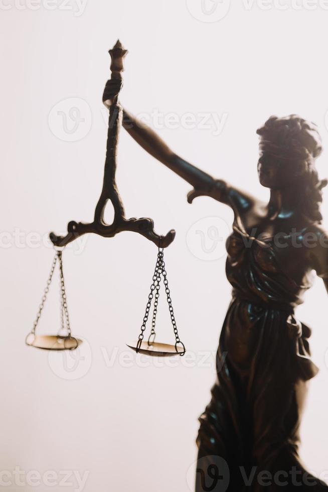
[[[271,116],[257,134],[260,183],[267,188],[289,187],[291,192],[300,193],[309,216],[320,220],[321,189],[327,181],[319,180],[315,169],[315,158],[322,150],[316,126],[296,114]]]

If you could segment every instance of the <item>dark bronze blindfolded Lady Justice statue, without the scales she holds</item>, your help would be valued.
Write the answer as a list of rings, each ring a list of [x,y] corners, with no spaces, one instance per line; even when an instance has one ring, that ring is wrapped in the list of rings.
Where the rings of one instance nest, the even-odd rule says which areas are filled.
[[[107,107],[117,100],[121,86],[121,79],[107,82]],[[327,181],[320,180],[315,169],[321,152],[315,125],[296,115],[271,116],[257,130],[258,176],[261,185],[270,188],[269,203],[213,179],[177,156],[126,110],[123,127],[193,186],[190,203],[206,195],[234,212],[226,264],[232,300],[221,331],[212,399],[200,417],[197,444],[202,465],[196,491],[227,489],[211,487],[211,478],[207,481],[215,456],[227,462],[227,490],[233,492],[328,490],[305,471],[298,457],[303,401],[317,368],[309,358],[310,329],[296,320],[294,309],[311,287],[313,271],[328,290],[328,235],[320,225],[319,210]],[[222,367],[223,352],[227,357]],[[268,476],[270,485],[263,481]],[[251,485],[245,477],[251,477]]]

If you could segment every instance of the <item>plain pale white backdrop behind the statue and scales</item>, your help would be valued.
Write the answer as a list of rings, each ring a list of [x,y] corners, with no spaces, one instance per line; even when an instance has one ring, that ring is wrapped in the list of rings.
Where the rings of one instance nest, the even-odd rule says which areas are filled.
[[[62,490],[65,480],[65,490],[84,492],[191,489],[197,417],[210,398],[230,299],[222,250],[229,209],[204,197],[188,205],[190,187],[122,132],[117,181],[127,216],[152,217],[160,233],[177,230],[165,255],[189,358],[160,365],[125,346],[139,332],[156,256],[152,243],[129,232],[84,237],[63,255],[73,334],[85,339],[77,358],[24,344],[53,258],[47,234],[65,232],[69,220],[91,220],[101,190],[107,50],[118,37],[129,50],[120,96],[127,109],[143,113],[182,157],[266,199],[255,132],[271,114],[313,120],[328,149],[325,4],[238,0],[228,10],[225,0],[202,11],[201,0],[1,0],[0,461],[7,490]],[[326,152],[318,160],[322,177]],[[328,218],[327,193],[322,210]],[[221,240],[208,236],[212,225]],[[41,332],[58,328],[57,291],[56,278]],[[301,455],[321,476],[328,469],[326,306],[317,280],[297,311],[313,327],[321,369],[311,382]],[[160,307],[158,332],[171,341]]]

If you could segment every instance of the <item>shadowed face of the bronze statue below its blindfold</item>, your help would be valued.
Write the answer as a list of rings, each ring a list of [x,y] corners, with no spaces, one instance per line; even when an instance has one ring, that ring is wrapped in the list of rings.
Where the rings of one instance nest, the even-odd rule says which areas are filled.
[[[261,154],[257,172],[261,185],[272,189],[284,188],[297,177],[294,165],[267,153]]]

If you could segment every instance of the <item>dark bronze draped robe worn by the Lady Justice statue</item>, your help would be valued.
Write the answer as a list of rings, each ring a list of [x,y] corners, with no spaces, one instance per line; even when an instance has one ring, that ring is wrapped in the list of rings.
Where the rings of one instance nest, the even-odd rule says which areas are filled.
[[[285,237],[287,248],[293,248],[290,239]],[[302,281],[296,282],[279,244],[272,237],[252,237],[238,216],[227,251],[233,298],[220,336],[212,400],[200,417],[196,490],[226,490],[226,469],[233,492],[328,490],[318,479],[313,485],[298,457],[302,404],[317,367],[309,358],[310,329],[296,320],[294,308],[311,286],[313,272],[295,248],[299,269],[304,269]],[[222,488],[220,480],[211,488],[215,456],[227,463]],[[273,477],[271,485],[268,479],[266,485],[258,483],[264,470]],[[246,487],[249,476],[252,485]]]

